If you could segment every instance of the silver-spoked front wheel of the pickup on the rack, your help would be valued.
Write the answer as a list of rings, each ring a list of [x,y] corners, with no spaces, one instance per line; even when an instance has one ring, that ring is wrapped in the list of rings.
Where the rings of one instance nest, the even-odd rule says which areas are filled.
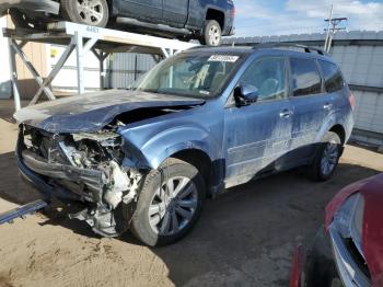
[[[67,21],[98,27],[109,19],[106,0],[61,0],[61,14]]]

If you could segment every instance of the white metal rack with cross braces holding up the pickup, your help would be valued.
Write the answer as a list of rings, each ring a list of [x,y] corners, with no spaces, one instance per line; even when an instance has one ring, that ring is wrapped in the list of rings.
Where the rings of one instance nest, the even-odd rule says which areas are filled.
[[[33,28],[3,28],[3,36],[8,37],[10,46],[10,69],[15,111],[21,108],[20,93],[18,89],[18,73],[15,68],[15,55],[19,55],[25,67],[39,85],[38,91],[30,102],[36,104],[42,94],[45,93],[49,100],[56,100],[50,83],[61,70],[69,56],[76,50],[78,93],[85,92],[84,87],[84,57],[91,50],[100,61],[101,89],[104,83],[104,61],[112,53],[141,53],[150,54],[159,62],[174,53],[185,50],[198,44],[186,43],[177,39],[169,39],[156,36],[142,35],[130,32],[116,31],[76,24],[71,22],[57,22],[48,24],[47,31]],[[37,72],[32,62],[23,53],[23,46],[28,42],[56,44],[66,46],[63,54],[57,61],[46,79]]]

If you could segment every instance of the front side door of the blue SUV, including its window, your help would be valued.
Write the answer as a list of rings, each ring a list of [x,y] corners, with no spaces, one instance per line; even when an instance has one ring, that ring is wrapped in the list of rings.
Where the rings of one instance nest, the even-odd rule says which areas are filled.
[[[237,83],[243,84],[256,87],[258,100],[239,106],[230,99],[227,104],[227,187],[245,183],[263,170],[274,170],[291,144],[293,110],[288,99],[287,59],[256,59]]]

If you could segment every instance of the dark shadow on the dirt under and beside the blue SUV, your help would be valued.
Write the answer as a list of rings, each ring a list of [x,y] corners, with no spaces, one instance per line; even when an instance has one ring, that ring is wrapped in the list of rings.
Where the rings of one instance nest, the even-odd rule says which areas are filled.
[[[0,156],[0,169],[1,198],[16,204],[38,198],[18,174],[13,152]],[[378,173],[341,163],[324,183],[287,172],[231,188],[218,199],[207,200],[188,237],[152,252],[166,264],[176,286],[286,286],[294,246],[315,236],[329,199],[344,186]],[[96,238],[84,222],[69,220],[66,211],[54,208],[45,213],[43,225]],[[129,232],[119,240],[140,244]]]

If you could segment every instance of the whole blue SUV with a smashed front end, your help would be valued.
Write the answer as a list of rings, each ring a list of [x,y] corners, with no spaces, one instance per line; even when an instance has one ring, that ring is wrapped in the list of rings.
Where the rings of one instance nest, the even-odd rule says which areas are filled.
[[[352,129],[353,96],[338,66],[309,47],[198,47],[128,90],[28,106],[19,168],[94,232],[128,228],[148,245],[184,237],[207,196],[307,167],[328,180]]]

